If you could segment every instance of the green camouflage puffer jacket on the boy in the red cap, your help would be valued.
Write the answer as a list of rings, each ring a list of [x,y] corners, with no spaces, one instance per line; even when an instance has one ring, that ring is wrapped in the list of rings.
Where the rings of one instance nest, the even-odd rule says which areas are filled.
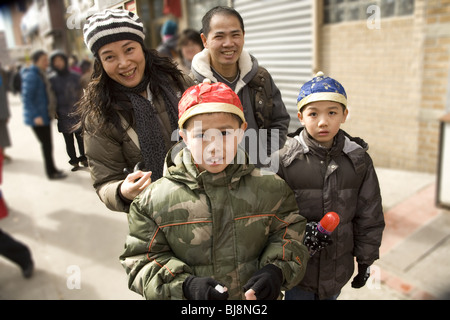
[[[129,288],[146,299],[185,299],[189,275],[210,276],[228,288],[229,299],[244,299],[242,287],[270,263],[282,270],[283,290],[298,283],[308,260],[305,219],[284,180],[248,160],[199,173],[188,149],[175,154],[178,146],[168,153],[164,177],[130,207],[120,257]]]

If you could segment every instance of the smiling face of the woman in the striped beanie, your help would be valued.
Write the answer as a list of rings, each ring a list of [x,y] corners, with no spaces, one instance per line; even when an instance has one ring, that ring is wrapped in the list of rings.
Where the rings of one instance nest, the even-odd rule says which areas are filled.
[[[144,77],[145,55],[137,41],[108,43],[98,50],[98,55],[108,76],[125,87],[137,86]]]

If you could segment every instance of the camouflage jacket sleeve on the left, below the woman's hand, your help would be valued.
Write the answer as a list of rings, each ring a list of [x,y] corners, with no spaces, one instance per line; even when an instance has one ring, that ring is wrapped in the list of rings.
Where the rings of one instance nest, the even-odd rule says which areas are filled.
[[[149,192],[130,207],[130,231],[120,261],[128,274],[128,287],[145,299],[181,300],[182,284],[192,270],[175,257],[164,233],[150,218]]]

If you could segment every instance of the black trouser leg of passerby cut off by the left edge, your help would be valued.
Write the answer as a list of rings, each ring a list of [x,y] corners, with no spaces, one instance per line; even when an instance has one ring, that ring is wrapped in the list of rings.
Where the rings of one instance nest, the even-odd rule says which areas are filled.
[[[26,269],[31,263],[30,249],[0,229],[0,255]]]

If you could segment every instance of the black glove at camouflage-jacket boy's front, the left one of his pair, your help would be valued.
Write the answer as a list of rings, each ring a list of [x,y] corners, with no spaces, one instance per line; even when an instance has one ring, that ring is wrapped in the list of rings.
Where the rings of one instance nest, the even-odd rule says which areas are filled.
[[[188,300],[227,300],[228,292],[215,289],[220,283],[210,277],[189,276],[183,282],[183,293]]]

